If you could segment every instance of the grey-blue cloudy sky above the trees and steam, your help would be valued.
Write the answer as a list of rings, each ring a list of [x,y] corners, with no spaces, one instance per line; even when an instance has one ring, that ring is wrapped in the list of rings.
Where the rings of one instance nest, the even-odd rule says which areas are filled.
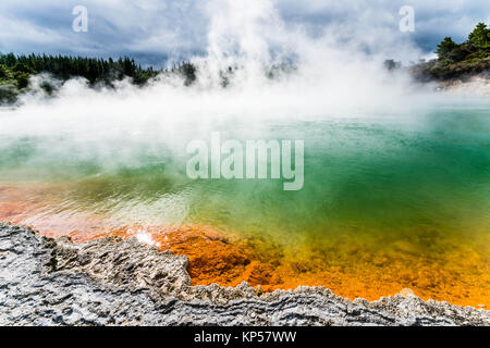
[[[230,1],[243,5],[236,8]],[[88,10],[86,33],[72,28],[76,5]],[[399,29],[403,5],[415,10],[413,33]],[[284,27],[302,28],[313,38],[329,28],[376,50],[377,42],[391,36],[426,54],[444,36],[462,41],[477,22],[490,23],[489,0],[2,0],[0,51],[130,54],[143,63],[159,64],[168,57],[206,52],[210,22],[225,7],[231,7],[233,15],[246,12],[245,21],[260,15],[250,10],[254,7],[271,12],[262,20],[277,16]]]

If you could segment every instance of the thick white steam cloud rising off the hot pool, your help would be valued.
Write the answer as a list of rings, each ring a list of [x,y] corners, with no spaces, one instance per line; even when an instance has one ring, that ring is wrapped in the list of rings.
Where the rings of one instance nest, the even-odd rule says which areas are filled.
[[[370,36],[345,40],[338,23],[311,36],[301,25],[286,25],[272,0],[213,0],[206,11],[208,47],[206,55],[191,60],[198,67],[194,85],[161,76],[145,88],[124,80],[110,90],[72,79],[56,98],[34,88],[22,107],[0,113],[2,146],[37,138],[41,156],[30,164],[61,158],[95,159],[103,167],[138,165],[142,151],[158,157],[166,148],[169,156],[184,156],[188,141],[213,130],[267,138],[269,121],[399,112],[420,103],[421,94],[427,99],[427,90],[415,92],[408,76],[384,71],[387,52],[360,49],[372,47]],[[406,41],[394,45],[400,33],[391,34],[378,36],[376,46],[406,50]],[[294,70],[267,76],[267,69],[281,64]],[[222,73],[230,66],[236,70],[223,88]]]

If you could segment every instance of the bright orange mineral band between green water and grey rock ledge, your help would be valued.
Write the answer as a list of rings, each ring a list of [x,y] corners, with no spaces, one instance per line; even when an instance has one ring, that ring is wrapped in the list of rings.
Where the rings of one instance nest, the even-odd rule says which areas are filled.
[[[29,208],[0,199],[0,221],[26,224],[49,237],[70,235],[75,243],[143,237],[161,251],[187,256],[193,285],[236,286],[245,281],[258,291],[324,286],[342,297],[370,301],[411,289],[425,300],[477,308],[490,304],[488,260],[464,246],[453,248],[443,260],[415,254],[404,243],[377,252],[355,240],[290,252],[260,238],[226,237],[211,226],[114,226],[93,215],[40,219]]]

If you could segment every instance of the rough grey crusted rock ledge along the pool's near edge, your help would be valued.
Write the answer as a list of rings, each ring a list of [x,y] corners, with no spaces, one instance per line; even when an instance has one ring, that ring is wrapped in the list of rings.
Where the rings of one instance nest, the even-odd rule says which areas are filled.
[[[136,239],[73,244],[0,224],[0,325],[490,325],[483,309],[416,296],[192,286],[186,257]]]

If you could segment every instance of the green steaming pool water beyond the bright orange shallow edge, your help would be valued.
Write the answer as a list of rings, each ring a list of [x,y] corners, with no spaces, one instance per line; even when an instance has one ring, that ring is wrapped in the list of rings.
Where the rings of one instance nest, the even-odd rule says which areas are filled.
[[[172,138],[159,137],[158,127],[147,135],[146,126],[132,133],[136,126],[100,136],[74,122],[60,128],[41,120],[33,122],[48,132],[16,134],[15,113],[0,120],[9,121],[0,130],[0,183],[63,184],[56,186],[57,199],[46,201],[47,214],[89,213],[128,225],[211,225],[260,238],[285,253],[322,258],[345,244],[377,252],[403,240],[415,258],[442,266],[446,249],[464,246],[477,256],[478,274],[488,271],[488,99],[444,99],[406,112],[265,119],[254,125],[233,119],[211,129],[240,141],[304,140],[298,191],[283,190],[281,179],[188,178],[185,145],[210,137],[192,124]]]

